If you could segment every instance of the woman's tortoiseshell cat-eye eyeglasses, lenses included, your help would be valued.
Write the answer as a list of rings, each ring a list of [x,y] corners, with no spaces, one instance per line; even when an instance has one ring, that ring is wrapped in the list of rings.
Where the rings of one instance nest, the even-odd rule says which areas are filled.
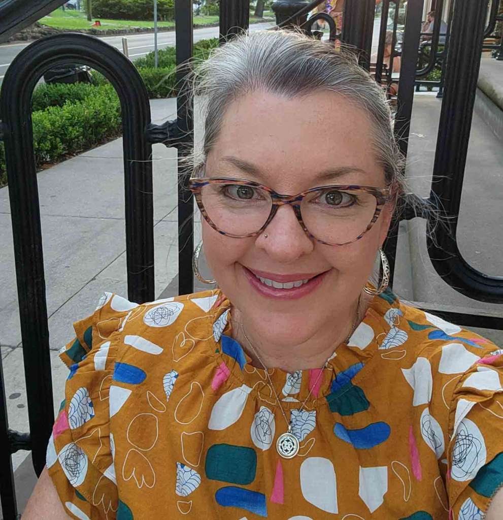
[[[206,222],[222,235],[255,237],[279,206],[290,204],[307,235],[327,245],[346,245],[362,238],[390,197],[387,188],[356,185],[321,186],[282,195],[250,180],[225,177],[192,178],[189,188]]]

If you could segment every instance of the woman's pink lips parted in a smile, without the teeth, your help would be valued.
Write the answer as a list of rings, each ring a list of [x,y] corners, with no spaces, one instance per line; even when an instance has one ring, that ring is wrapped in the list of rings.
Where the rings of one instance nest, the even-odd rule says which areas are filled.
[[[320,284],[325,279],[326,275],[330,271],[325,271],[317,274],[295,274],[295,275],[273,275],[272,273],[267,273],[264,271],[256,271],[255,269],[252,271],[245,266],[243,267],[243,272],[245,277],[248,279],[251,287],[253,287],[260,295],[266,296],[268,298],[273,298],[275,300],[298,300],[298,298],[303,298],[304,296],[315,291]],[[261,276],[262,278],[269,278],[270,280],[274,280],[277,282],[291,282],[295,280],[306,280],[306,278],[310,278],[309,282],[301,285],[300,287],[293,287],[292,289],[276,289],[274,287],[270,287],[262,283],[256,276]],[[281,278],[281,279],[277,279]]]

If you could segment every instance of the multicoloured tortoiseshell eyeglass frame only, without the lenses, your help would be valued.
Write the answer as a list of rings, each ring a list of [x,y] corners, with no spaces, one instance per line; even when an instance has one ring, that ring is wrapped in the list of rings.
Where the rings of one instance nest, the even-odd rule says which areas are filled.
[[[224,183],[227,183],[228,181],[230,181],[230,183],[238,185],[238,186],[250,186],[253,188],[260,188],[269,193],[269,195],[271,197],[271,202],[272,202],[271,213],[269,214],[269,217],[267,218],[264,225],[257,231],[248,233],[247,235],[243,235],[243,236],[233,235],[232,233],[228,233],[226,231],[222,231],[221,229],[219,229],[215,225],[215,223],[209,218],[206,210],[204,209],[203,198],[202,198],[202,193],[201,193],[202,188],[209,184],[224,184]],[[361,191],[365,191],[375,197],[376,210],[374,212],[374,216],[372,217],[369,224],[367,225],[367,228],[354,240],[350,240],[349,242],[344,242],[342,244],[331,244],[329,242],[325,242],[324,240],[321,240],[321,239],[315,237],[304,224],[303,219],[302,219],[302,213],[300,211],[300,203],[302,202],[303,198],[306,197],[309,193],[312,193],[313,191],[319,191],[321,189],[323,189],[323,190],[336,189],[337,191],[361,190]],[[272,188],[269,188],[268,186],[264,186],[263,184],[256,183],[253,180],[236,179],[236,178],[232,178],[232,177],[192,177],[189,179],[189,190],[194,194],[194,198],[196,200],[197,207],[201,211],[201,214],[203,215],[206,222],[213,229],[215,229],[215,231],[220,233],[220,235],[224,235],[226,237],[231,237],[231,238],[257,237],[271,223],[271,220],[274,218],[274,215],[276,214],[279,206],[284,206],[286,204],[290,204],[290,205],[292,205],[295,216],[297,217],[297,220],[299,221],[300,227],[303,229],[303,231],[306,233],[306,235],[308,237],[310,237],[311,239],[314,239],[317,242],[320,242],[321,244],[325,244],[325,245],[347,245],[347,244],[352,244],[353,242],[356,242],[357,240],[360,240],[365,235],[365,233],[367,233],[370,229],[372,229],[372,227],[376,223],[377,219],[379,218],[379,215],[381,214],[383,206],[385,206],[385,204],[390,200],[390,194],[391,194],[390,188],[377,188],[375,186],[360,186],[360,185],[354,185],[354,184],[345,184],[345,185],[318,186],[316,188],[310,188],[309,190],[302,191],[301,193],[298,193],[296,195],[283,195],[281,193],[275,192]]]

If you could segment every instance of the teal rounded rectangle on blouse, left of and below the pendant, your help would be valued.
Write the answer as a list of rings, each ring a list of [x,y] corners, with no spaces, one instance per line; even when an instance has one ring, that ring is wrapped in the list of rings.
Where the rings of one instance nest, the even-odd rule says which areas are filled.
[[[257,453],[252,448],[214,444],[206,453],[206,476],[230,484],[251,484],[257,472]]]

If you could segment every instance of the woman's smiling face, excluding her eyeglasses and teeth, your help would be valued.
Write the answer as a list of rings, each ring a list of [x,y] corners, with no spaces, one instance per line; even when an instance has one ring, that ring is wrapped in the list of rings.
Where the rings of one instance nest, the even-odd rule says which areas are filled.
[[[282,194],[327,185],[384,188],[370,129],[365,112],[335,93],[287,99],[253,92],[229,106],[205,176],[253,180]],[[219,287],[248,328],[260,330],[264,340],[276,345],[300,344],[321,327],[334,327],[337,316],[347,316],[354,306],[392,211],[388,203],[372,229],[342,246],[309,238],[289,205],[280,206],[257,237],[226,237],[204,222],[204,252]],[[275,289],[258,277],[310,281]]]

